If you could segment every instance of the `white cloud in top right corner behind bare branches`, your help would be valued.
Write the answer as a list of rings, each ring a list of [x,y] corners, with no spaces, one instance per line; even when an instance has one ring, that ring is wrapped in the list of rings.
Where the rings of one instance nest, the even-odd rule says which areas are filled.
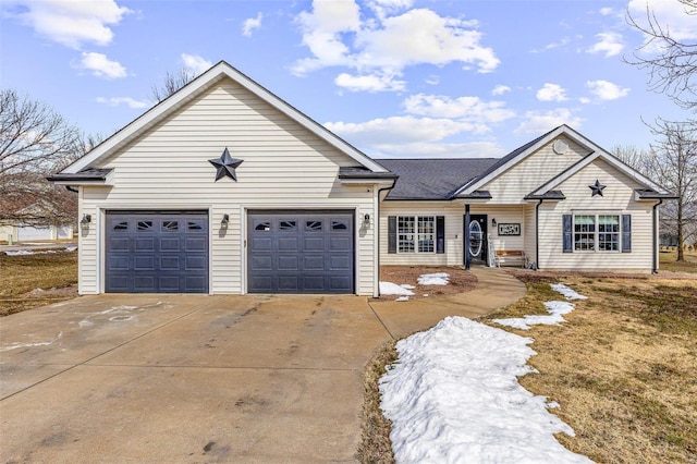
[[[673,39],[697,39],[697,27],[695,26],[697,7],[687,7],[676,0],[631,0],[627,4],[627,11],[634,21],[644,27],[648,25],[647,5],[652,19],[656,19],[663,29],[670,30]]]

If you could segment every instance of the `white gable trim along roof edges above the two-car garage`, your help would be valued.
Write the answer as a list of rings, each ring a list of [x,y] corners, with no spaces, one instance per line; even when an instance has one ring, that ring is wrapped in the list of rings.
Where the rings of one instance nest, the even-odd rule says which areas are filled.
[[[376,160],[369,158],[367,155],[345,142],[343,138],[330,132],[321,124],[310,119],[309,117],[297,110],[295,107],[288,103],[285,100],[282,100],[274,94],[270,93],[261,85],[228,64],[225,61],[220,61],[218,64],[210,68],[208,71],[186,84],[184,87],[143,113],[140,117],[121,129],[111,137],[107,138],[87,155],[70,164],[57,175],[60,176],[62,174],[76,174],[90,168],[98,168],[99,161],[113,154],[113,151],[119,149],[119,147],[138,137],[146,130],[164,119],[168,114],[175,111],[183,103],[189,101],[192,98],[201,94],[208,87],[224,77],[231,78],[261,100],[271,105],[277,110],[281,111],[282,113],[294,120],[296,123],[310,131],[313,134],[317,135],[334,148],[353,158],[362,167],[367,168],[371,172],[388,172],[384,167],[380,166],[380,163],[378,163]]]

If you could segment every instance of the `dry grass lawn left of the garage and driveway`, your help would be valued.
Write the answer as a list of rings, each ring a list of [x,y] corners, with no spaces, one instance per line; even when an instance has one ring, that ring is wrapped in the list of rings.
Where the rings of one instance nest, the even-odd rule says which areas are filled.
[[[73,298],[76,284],[77,252],[0,253],[0,316]]]

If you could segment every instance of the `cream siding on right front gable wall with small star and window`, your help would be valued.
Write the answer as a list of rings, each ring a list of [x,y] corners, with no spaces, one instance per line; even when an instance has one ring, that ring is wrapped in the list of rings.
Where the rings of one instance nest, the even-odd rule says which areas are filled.
[[[603,196],[591,196],[596,180],[607,185]],[[634,202],[640,185],[609,163],[596,160],[566,180],[560,188],[566,199],[540,207],[540,269],[633,270],[652,267],[652,202]],[[632,215],[632,253],[563,253],[562,215],[574,211],[615,211]]]

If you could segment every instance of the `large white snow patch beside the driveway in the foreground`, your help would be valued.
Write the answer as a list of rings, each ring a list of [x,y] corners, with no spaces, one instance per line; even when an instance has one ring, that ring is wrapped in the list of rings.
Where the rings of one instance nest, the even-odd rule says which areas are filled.
[[[574,431],[517,382],[535,371],[531,342],[464,317],[400,341],[380,380],[396,462],[591,462],[554,439]]]

